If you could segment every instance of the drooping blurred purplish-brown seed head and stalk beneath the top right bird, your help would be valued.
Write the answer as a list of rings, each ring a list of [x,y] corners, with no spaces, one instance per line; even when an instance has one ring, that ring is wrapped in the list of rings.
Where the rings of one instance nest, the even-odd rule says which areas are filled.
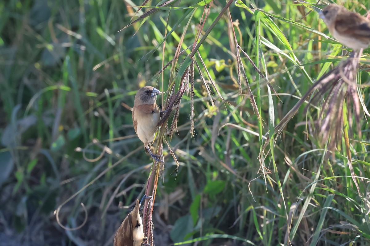
[[[354,106],[354,116],[357,121],[357,132],[361,136],[361,131],[359,127],[360,121],[360,102],[359,96],[357,94],[357,84],[355,81],[357,67],[359,64],[359,59],[362,52],[352,52],[351,55],[334,69],[323,75],[306,94],[296,103],[296,105],[281,119],[279,124],[275,127],[275,132],[281,132],[286,124],[291,118],[296,114],[299,107],[311,96],[311,94],[321,87],[319,93],[316,94],[311,103],[317,103],[319,96],[324,97],[324,94],[328,94],[326,97],[326,103],[323,105],[323,110],[320,112],[317,129],[319,129],[319,134],[322,136],[322,142],[326,142],[329,138],[332,139],[332,143],[328,146],[329,149],[336,145],[336,142],[341,139],[342,136],[342,117],[343,117],[343,103],[344,99],[347,98],[353,103]],[[349,103],[347,101],[347,103]],[[306,110],[309,105],[306,106]],[[350,109],[350,108],[349,108]],[[349,110],[350,111],[350,110]],[[348,114],[351,116],[352,114]],[[349,120],[349,122],[353,122]],[[353,128],[350,125],[350,129]],[[268,141],[266,141],[264,148],[267,146]]]

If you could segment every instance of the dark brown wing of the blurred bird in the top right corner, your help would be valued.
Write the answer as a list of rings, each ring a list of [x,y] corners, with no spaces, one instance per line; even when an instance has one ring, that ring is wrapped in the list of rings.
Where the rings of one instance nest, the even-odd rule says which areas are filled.
[[[334,27],[342,34],[370,37],[370,22],[358,13],[342,12],[337,15]]]

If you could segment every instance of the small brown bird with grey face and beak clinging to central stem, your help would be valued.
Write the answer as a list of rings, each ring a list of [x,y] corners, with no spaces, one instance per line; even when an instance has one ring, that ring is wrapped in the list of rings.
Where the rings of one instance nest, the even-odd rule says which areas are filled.
[[[158,162],[164,162],[161,156],[154,155],[150,150],[150,144],[154,141],[155,131],[161,119],[161,112],[156,103],[158,94],[162,92],[152,86],[144,86],[137,91],[134,108],[132,108],[132,122],[134,122],[136,134],[152,158]]]

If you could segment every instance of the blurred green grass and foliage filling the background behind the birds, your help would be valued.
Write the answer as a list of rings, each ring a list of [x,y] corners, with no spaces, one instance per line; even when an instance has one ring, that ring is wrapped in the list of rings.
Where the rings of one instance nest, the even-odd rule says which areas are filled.
[[[154,75],[174,58],[179,44],[182,49],[194,44],[200,23],[202,35],[212,25],[225,2],[211,2],[211,7],[199,1],[196,8],[161,9],[120,32],[136,18],[133,6],[141,2],[0,2],[4,242],[112,245],[131,209],[120,210],[118,204],[132,205],[143,195],[151,162],[135,135],[128,108],[145,84],[166,91],[170,79],[181,78],[179,68],[191,48],[176,67]],[[172,7],[195,3],[174,1]],[[370,3],[346,7],[364,14]],[[206,18],[204,10],[209,10]],[[245,81],[239,95],[233,30],[243,51],[279,93],[279,98],[268,96],[266,80],[241,53],[263,122],[249,103]],[[200,58],[195,57],[199,64],[204,61],[225,103],[215,96],[218,108],[212,107],[199,79],[205,69],[195,68],[195,135],[189,132],[190,95],[185,94],[178,134],[169,141],[179,167],[164,146],[165,170],[154,204],[157,245],[186,240],[202,245],[268,246],[290,240],[293,245],[370,244],[370,134],[365,114],[358,122],[361,138],[353,130],[351,138],[357,142],[350,142],[360,194],[351,179],[344,140],[327,155],[327,143],[316,135],[314,122],[324,97],[321,104],[301,107],[276,137],[275,147],[259,160],[269,119],[273,116],[275,124],[279,122],[297,98],[342,58],[345,49],[327,35],[316,12],[285,1],[238,0],[216,22],[199,48]],[[365,51],[357,77],[367,108],[368,58]],[[161,105],[160,100],[164,98],[158,99]],[[70,228],[84,220],[80,203],[87,208],[87,223],[77,231],[65,231],[56,223],[53,212],[65,201],[59,216]]]

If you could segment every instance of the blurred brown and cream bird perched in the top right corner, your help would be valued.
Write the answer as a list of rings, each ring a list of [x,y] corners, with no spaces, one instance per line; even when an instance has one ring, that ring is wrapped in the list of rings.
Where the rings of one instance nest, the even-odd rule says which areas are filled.
[[[329,32],[343,45],[354,51],[370,45],[370,21],[359,13],[333,3],[319,14]]]

